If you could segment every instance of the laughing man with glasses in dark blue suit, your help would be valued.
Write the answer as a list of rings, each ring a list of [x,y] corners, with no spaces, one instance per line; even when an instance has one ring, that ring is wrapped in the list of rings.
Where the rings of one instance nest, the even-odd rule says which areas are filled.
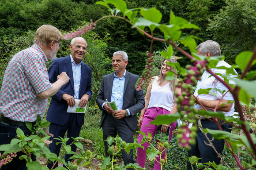
[[[81,127],[84,123],[83,113],[68,113],[68,106],[75,105],[75,99],[79,99],[79,106],[81,108],[87,105],[87,102],[91,98],[91,69],[88,65],[83,63],[82,58],[87,50],[87,43],[82,37],[75,37],[69,45],[72,54],[68,57],[56,58],[53,60],[49,68],[49,80],[54,83],[57,80],[57,75],[61,72],[67,72],[70,77],[70,81],[64,85],[60,90],[52,97],[49,109],[47,112],[46,120],[51,122],[49,127],[49,133],[53,134],[53,138],[62,137],[68,130],[67,137],[70,139],[67,141],[67,145],[73,142],[71,137],[79,137]],[[49,150],[59,156],[60,146],[56,145],[59,140],[53,140],[53,143],[49,145]],[[76,151],[76,146],[71,145],[71,150]],[[65,155],[65,161],[72,155]],[[53,163],[49,163],[48,167],[51,168]],[[57,167],[58,164],[56,163]]]

